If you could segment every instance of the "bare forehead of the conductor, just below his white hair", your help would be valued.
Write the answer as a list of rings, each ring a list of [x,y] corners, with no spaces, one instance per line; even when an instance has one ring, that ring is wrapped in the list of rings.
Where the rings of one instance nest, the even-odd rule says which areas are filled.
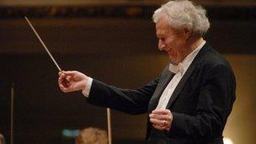
[[[157,23],[156,23],[157,35],[159,35],[159,36],[166,35],[171,29],[172,28],[171,28],[170,24],[168,23],[167,18],[162,17],[157,20]]]

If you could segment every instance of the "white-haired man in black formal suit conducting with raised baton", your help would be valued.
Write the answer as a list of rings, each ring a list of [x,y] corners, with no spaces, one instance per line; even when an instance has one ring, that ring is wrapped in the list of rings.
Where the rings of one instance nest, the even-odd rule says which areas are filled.
[[[152,18],[158,49],[170,60],[160,77],[130,90],[81,72],[59,72],[61,90],[82,90],[88,103],[125,113],[148,113],[148,143],[223,143],[236,82],[228,61],[203,39],[210,27],[205,9],[187,0],[170,1]]]

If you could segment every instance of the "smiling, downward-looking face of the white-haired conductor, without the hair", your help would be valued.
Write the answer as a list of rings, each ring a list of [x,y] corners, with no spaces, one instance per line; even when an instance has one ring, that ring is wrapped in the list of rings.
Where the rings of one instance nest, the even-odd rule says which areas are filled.
[[[163,17],[157,21],[156,31],[158,49],[166,51],[173,64],[178,64],[182,61],[186,54],[186,35],[184,35],[184,30],[174,30],[168,23],[168,19]]]

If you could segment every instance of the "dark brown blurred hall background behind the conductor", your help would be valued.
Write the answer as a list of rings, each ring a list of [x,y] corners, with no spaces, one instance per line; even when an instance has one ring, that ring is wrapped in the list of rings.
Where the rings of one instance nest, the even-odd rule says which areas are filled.
[[[57,68],[24,20],[27,16],[64,70],[85,72],[121,88],[139,88],[162,72],[152,13],[159,0],[0,0],[0,133],[13,143],[72,144],[77,130],[107,130],[106,109],[82,93],[61,93]],[[211,21],[205,40],[231,62],[237,100],[223,136],[252,144],[256,136],[256,2],[202,0]],[[13,86],[12,86],[13,85]],[[143,143],[147,115],[111,110],[113,143]],[[230,143],[226,143],[230,144]]]

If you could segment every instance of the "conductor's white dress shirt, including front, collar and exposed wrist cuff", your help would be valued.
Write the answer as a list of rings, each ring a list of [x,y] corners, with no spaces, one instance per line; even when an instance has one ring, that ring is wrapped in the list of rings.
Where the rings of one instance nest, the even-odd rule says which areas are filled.
[[[184,60],[181,62],[181,66],[183,67],[183,72],[178,72],[174,75],[173,79],[168,83],[168,86],[164,89],[159,102],[157,104],[157,109],[165,109],[168,100],[171,98],[171,95],[173,94],[174,89],[177,87],[180,79],[183,77],[184,73],[189,68],[189,65],[194,60],[195,56],[198,54],[200,49],[205,45],[205,40],[194,50],[192,51],[188,56],[184,58]],[[91,87],[93,83],[93,78],[88,77],[88,82],[86,87],[83,89],[82,93],[84,96],[88,97]]]

